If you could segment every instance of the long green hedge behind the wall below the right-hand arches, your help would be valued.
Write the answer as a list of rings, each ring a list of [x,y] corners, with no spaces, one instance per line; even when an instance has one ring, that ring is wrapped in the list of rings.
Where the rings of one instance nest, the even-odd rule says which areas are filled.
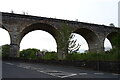
[[[86,61],[120,61],[120,51],[111,50],[109,53],[73,53],[66,56],[66,60]]]

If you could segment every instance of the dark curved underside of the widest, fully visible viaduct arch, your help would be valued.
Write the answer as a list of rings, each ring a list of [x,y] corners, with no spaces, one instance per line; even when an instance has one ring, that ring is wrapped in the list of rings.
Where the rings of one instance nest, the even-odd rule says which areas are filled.
[[[35,30],[43,30],[43,31],[46,31],[46,32],[50,33],[53,36],[53,38],[55,39],[56,44],[58,44],[58,40],[57,39],[58,39],[58,35],[60,35],[58,30],[55,27],[53,27],[53,26],[51,26],[49,24],[46,24],[46,23],[31,24],[30,26],[27,26],[25,29],[23,29],[22,32],[20,33],[19,44],[20,44],[22,38],[27,33],[31,32],[31,31],[35,31]]]

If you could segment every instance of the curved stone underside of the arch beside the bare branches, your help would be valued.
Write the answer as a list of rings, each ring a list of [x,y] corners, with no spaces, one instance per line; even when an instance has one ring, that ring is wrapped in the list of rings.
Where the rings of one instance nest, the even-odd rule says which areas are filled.
[[[103,51],[102,44],[94,31],[87,28],[79,28],[74,33],[80,34],[86,40],[90,52]]]

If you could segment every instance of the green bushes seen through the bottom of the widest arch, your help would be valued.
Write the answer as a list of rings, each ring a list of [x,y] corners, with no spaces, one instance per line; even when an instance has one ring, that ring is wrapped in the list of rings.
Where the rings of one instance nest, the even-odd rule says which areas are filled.
[[[38,49],[25,49],[20,51],[20,58],[22,59],[44,59],[44,60],[57,60],[56,52],[40,52]]]

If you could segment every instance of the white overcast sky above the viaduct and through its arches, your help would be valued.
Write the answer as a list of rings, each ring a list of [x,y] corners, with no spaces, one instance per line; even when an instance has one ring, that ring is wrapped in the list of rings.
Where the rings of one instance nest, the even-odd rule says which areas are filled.
[[[52,17],[58,19],[76,20],[81,22],[105,24],[114,23],[118,26],[119,0],[0,0],[0,11],[29,15]],[[36,34],[39,34],[36,36]],[[45,36],[42,36],[44,34]],[[0,45],[10,43],[9,35],[0,29]],[[5,37],[6,36],[6,37]],[[39,36],[39,37],[38,37]],[[82,49],[88,49],[85,40],[76,35]],[[29,40],[29,41],[28,41]],[[34,43],[33,43],[34,42]],[[29,45],[28,45],[29,44]],[[106,45],[109,47],[109,42]],[[21,50],[34,47],[56,51],[55,39],[44,31],[34,31],[27,34],[21,42]]]

